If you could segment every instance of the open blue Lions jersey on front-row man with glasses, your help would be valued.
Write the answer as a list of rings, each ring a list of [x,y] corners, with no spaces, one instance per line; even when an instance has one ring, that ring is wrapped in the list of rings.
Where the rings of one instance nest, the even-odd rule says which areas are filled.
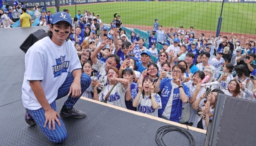
[[[181,112],[182,112],[182,100],[180,96],[180,89],[179,87],[176,87],[175,89],[172,89],[171,85],[171,80],[170,78],[163,78],[160,82],[159,88],[161,91],[160,98],[162,102],[162,109],[158,109],[158,117],[161,117],[163,115],[163,112],[165,111],[166,108],[170,110],[170,106],[166,107],[169,99],[171,98],[171,110],[170,111],[165,111],[168,115],[170,114],[170,119],[171,121],[174,122],[179,122],[181,119]],[[188,99],[190,99],[190,92],[189,88],[181,83],[183,86],[183,90],[185,94],[187,95]],[[173,90],[173,91],[172,91]],[[173,92],[173,96],[171,96],[171,92]]]

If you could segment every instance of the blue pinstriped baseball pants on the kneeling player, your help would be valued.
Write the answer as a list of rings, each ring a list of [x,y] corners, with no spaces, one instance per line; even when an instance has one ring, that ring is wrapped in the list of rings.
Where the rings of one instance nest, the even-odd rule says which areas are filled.
[[[60,99],[64,96],[66,96],[69,93],[69,88],[71,84],[74,81],[73,75],[68,75],[62,86],[58,90],[58,96],[56,99]],[[86,74],[82,73],[81,76],[81,92],[82,94],[85,92],[85,90],[91,85],[91,78]],[[81,96],[72,98],[72,94],[69,95],[68,99],[65,101],[64,106],[66,108],[71,108],[75,105],[78,99],[80,99]],[[50,104],[53,110],[56,110],[56,100],[54,100],[53,103]],[[37,125],[40,126],[41,131],[50,141],[53,141],[54,143],[62,143],[65,139],[68,137],[67,130],[65,128],[65,125],[63,121],[58,117],[61,126],[58,125],[58,123],[55,121],[55,130],[53,130],[53,125],[51,125],[51,130],[49,130],[48,123],[47,126],[44,127],[45,122],[45,110],[43,108],[40,108],[38,110],[28,110],[29,114],[33,117],[33,119],[37,122]]]

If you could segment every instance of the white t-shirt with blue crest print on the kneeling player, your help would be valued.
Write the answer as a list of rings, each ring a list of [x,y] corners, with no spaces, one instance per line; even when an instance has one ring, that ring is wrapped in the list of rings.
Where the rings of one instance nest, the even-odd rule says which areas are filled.
[[[29,110],[42,108],[29,85],[29,80],[42,80],[40,83],[45,97],[51,104],[57,98],[58,89],[68,73],[80,68],[80,60],[70,40],[62,46],[57,46],[47,36],[34,43],[25,55],[26,70],[21,89],[24,107]]]

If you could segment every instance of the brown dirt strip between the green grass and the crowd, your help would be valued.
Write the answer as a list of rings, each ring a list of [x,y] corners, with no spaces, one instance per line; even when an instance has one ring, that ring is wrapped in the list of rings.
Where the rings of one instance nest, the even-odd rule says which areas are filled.
[[[152,31],[153,26],[138,26],[138,25],[130,25],[130,24],[123,24],[122,26],[124,27],[128,27],[128,28],[136,28],[139,30],[143,30],[143,31]],[[167,27],[163,27],[163,30],[167,31]],[[185,32],[189,29],[184,28]],[[209,37],[209,36],[216,36],[216,31],[204,31],[204,30],[197,30],[194,28],[194,31],[196,32],[196,35],[199,36],[201,33],[204,33],[204,36]],[[174,32],[174,30],[173,30]],[[228,36],[228,38],[231,37],[231,33],[230,32],[220,32],[221,36]],[[256,39],[256,35],[252,35],[252,34],[240,34],[240,33],[234,33],[233,36],[237,36],[239,38],[240,41],[242,41],[242,36],[244,36],[244,41],[246,41],[247,39],[251,38],[252,40]],[[245,46],[245,42],[244,42],[244,46]]]

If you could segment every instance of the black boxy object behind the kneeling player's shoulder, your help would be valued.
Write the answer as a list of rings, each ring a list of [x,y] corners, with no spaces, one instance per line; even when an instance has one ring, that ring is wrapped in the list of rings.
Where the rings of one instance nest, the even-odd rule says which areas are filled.
[[[21,44],[20,49],[23,52],[27,52],[27,50],[38,40],[41,40],[42,38],[46,37],[47,34],[43,29],[39,29],[33,33],[31,33],[29,36],[27,36],[26,40]]]

